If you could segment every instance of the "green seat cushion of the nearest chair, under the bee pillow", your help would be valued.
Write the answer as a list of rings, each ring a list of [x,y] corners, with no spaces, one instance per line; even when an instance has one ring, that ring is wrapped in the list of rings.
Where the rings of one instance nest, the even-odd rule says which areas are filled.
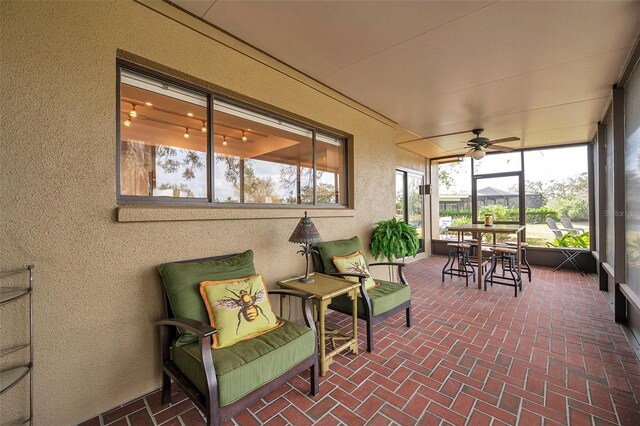
[[[243,340],[233,346],[213,349],[211,356],[218,380],[220,406],[229,405],[281,376],[310,357],[316,346],[313,331],[284,320],[282,327]],[[198,343],[173,348],[176,366],[204,394],[204,373]]]

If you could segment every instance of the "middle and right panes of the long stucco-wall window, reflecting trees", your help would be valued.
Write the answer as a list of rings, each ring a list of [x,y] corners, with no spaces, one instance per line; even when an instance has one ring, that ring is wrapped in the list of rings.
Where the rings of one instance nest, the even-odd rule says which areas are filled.
[[[236,105],[215,103],[215,199],[313,204],[313,132]],[[345,143],[316,136],[316,203],[345,204]]]

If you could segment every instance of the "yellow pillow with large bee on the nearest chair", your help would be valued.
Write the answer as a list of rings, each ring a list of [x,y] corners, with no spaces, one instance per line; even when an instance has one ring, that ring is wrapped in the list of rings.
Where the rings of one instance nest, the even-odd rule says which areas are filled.
[[[231,346],[283,324],[271,309],[267,287],[259,274],[224,281],[203,281],[200,294],[211,325],[218,330],[213,335],[213,349]]]

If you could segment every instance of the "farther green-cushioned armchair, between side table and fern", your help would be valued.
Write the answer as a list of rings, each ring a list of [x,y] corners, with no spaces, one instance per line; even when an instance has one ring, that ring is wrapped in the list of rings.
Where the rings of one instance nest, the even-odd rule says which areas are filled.
[[[358,318],[367,323],[367,351],[373,352],[373,326],[382,322],[391,315],[405,311],[407,327],[411,327],[411,291],[404,276],[404,263],[381,262],[368,263],[367,266],[386,265],[397,268],[399,283],[375,280],[378,287],[365,289],[363,274],[343,274],[338,271],[333,263],[334,256],[348,256],[357,251],[362,251],[362,243],[358,237],[348,240],[324,241],[314,246],[313,265],[317,272],[341,277],[357,277],[360,281],[361,296],[358,298]],[[366,259],[365,259],[366,262]],[[329,305],[334,311],[353,315],[352,302],[346,296],[338,296]]]

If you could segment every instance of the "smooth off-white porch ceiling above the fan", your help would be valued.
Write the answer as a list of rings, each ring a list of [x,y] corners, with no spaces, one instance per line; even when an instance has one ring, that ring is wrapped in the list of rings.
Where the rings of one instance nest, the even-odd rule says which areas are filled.
[[[640,28],[639,1],[174,3],[419,137],[484,127],[514,147],[590,140]]]

